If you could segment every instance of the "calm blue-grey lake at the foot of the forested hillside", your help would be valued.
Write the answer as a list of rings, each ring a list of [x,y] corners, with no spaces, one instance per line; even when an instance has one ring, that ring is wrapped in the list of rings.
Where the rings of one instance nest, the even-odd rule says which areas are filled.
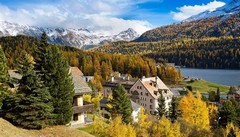
[[[181,72],[183,76],[201,78],[218,84],[240,85],[240,70],[181,68]]]

